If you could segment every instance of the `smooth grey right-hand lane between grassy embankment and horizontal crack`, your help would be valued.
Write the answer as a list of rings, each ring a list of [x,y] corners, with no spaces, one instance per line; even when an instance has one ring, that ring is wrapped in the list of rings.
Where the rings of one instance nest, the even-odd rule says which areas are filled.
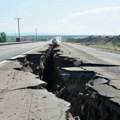
[[[120,53],[115,54],[115,53],[107,52],[102,49],[82,46],[80,44],[78,45],[78,44],[68,43],[67,45],[70,45],[72,48],[75,48],[76,52],[81,51],[81,52],[84,52],[85,55],[91,56],[89,57],[89,61],[91,60],[91,62],[93,62],[93,58],[97,58],[97,60],[101,60],[102,63],[120,65]],[[85,60],[87,60],[86,57],[85,57]],[[95,61],[95,59],[94,59],[94,62],[98,63],[98,61]]]

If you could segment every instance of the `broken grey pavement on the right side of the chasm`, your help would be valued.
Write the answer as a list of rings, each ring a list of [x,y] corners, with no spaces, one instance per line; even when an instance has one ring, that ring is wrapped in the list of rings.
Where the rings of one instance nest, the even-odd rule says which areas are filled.
[[[83,69],[95,71],[98,76],[102,76],[100,81],[94,81],[92,87],[120,104],[120,54],[72,43],[64,43],[62,47],[66,49],[66,54],[69,51],[72,57],[90,63],[82,66]]]

